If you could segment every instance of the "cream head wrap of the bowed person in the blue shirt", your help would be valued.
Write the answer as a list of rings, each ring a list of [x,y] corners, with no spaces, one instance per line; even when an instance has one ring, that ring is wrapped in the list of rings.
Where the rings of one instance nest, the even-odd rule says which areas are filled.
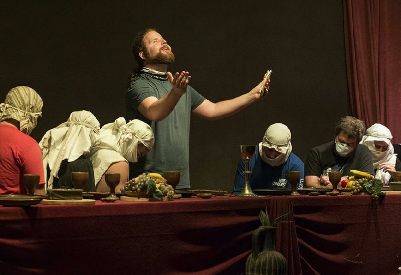
[[[281,154],[275,159],[269,159],[263,147],[274,149]],[[263,137],[263,142],[259,144],[259,154],[264,162],[271,166],[279,166],[285,163],[292,151],[291,131],[283,123],[274,123],[270,125]]]

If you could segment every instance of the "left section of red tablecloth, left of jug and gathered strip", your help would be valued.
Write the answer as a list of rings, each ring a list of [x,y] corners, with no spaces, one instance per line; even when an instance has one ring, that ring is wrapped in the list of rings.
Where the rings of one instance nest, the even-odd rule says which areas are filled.
[[[0,273],[239,273],[265,197],[0,207]]]

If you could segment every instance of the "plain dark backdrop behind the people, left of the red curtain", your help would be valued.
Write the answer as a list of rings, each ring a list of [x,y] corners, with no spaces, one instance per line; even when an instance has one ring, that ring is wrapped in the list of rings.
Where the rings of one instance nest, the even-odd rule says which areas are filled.
[[[272,123],[289,126],[305,161],[350,114],[342,0],[2,1],[0,20],[0,100],[18,85],[42,96],[37,141],[75,110],[101,125],[125,115],[130,44],[145,27],[171,45],[170,70],[189,71],[211,101],[248,92],[273,70],[265,100],[222,120],[192,119],[193,188],[231,190],[239,145],[259,143]]]

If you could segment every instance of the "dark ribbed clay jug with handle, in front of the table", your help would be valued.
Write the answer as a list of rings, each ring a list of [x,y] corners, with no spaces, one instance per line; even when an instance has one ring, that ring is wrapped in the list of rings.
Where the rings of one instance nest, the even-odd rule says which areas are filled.
[[[287,260],[276,251],[276,228],[260,226],[252,234],[252,253],[248,256],[245,272],[247,274],[287,274]],[[259,235],[265,234],[263,251],[259,250]]]

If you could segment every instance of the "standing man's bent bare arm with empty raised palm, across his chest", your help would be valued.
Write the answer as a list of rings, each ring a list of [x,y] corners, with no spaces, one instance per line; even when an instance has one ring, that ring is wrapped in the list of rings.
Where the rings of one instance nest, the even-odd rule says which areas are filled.
[[[154,96],[147,97],[139,104],[139,112],[151,121],[160,121],[170,114],[178,100],[186,92],[191,77],[188,72],[183,71],[181,74],[175,73],[174,76],[168,73],[168,78],[172,89],[167,95],[160,99]]]

